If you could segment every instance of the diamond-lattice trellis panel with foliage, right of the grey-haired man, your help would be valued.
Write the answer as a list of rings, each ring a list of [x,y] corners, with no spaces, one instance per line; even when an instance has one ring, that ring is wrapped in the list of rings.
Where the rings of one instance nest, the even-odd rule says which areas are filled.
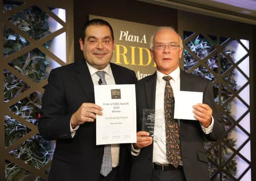
[[[222,140],[205,145],[211,180],[245,180],[243,177],[250,174],[251,168],[250,126],[246,126],[250,125],[251,111],[249,41],[193,31],[183,33],[184,70],[212,81],[218,111],[225,123]],[[236,111],[232,110],[234,107]],[[233,138],[233,132],[242,137]],[[240,153],[245,150],[247,154]]]

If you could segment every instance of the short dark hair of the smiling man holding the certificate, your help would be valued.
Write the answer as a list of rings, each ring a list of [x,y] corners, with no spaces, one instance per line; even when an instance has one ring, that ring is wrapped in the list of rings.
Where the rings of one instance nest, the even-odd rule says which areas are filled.
[[[84,39],[85,39],[86,28],[91,25],[108,26],[108,28],[110,29],[110,32],[111,32],[112,40],[114,41],[114,31],[113,31],[111,25],[107,21],[105,21],[103,19],[91,19],[88,22],[85,22],[85,24],[82,26],[82,33],[81,33],[82,42],[84,42]]]

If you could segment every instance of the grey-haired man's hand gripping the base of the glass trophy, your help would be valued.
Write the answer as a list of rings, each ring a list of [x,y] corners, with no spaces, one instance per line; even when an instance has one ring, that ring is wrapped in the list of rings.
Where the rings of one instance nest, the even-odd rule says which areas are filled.
[[[152,137],[149,136],[147,131],[138,131],[137,132],[137,143],[134,143],[134,149],[141,149],[148,145],[152,144]]]

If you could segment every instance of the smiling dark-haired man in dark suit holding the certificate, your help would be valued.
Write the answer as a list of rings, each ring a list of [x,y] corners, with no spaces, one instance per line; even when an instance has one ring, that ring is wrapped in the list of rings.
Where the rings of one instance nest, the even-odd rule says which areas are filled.
[[[110,63],[114,33],[108,22],[86,22],[79,42],[84,59],[51,70],[42,99],[39,132],[56,140],[48,180],[126,181],[130,144],[96,145],[96,114],[104,110],[95,104],[94,85],[134,84],[136,75]]]

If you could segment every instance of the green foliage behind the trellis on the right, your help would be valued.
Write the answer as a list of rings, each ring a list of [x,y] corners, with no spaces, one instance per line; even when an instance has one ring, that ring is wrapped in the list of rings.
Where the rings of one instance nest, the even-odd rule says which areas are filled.
[[[185,35],[185,37],[186,37],[186,35]],[[208,56],[214,50],[214,47],[208,42],[208,40],[200,35],[197,36],[195,40],[188,42],[187,46],[201,60],[203,58],[205,58],[206,56]],[[230,50],[225,51],[225,54],[227,54],[230,57],[232,57],[233,53],[234,52],[230,51]],[[219,54],[219,56],[220,56],[220,67],[218,66],[217,54],[213,55],[211,58],[208,58],[207,61],[205,62],[205,64],[207,64],[211,70],[216,72],[216,74],[223,74],[226,71],[228,71],[230,69],[230,67],[232,67],[232,64],[221,53]],[[187,50],[184,50],[184,69],[185,69],[185,71],[190,70],[192,67],[196,66],[197,63],[198,63],[198,61],[193,56],[191,56]],[[215,79],[216,79],[214,77],[214,75],[210,71],[208,71],[206,67],[204,67],[202,65],[199,65],[199,67],[194,69],[192,74],[199,75],[201,77],[205,77],[212,82],[215,81]],[[237,84],[234,79],[234,76],[235,76],[234,72],[230,71],[230,72],[228,72],[227,76],[224,79],[225,79],[225,81],[227,81],[228,85],[234,91],[236,91]],[[221,86],[221,92],[220,92],[221,100],[219,101],[218,89],[219,89],[219,86],[217,84],[213,85],[214,99],[215,99],[216,103],[223,104],[226,102],[226,100],[228,100],[232,96],[232,93],[228,90],[227,87]],[[230,103],[228,103],[228,106],[225,106],[223,109],[224,109],[223,111],[230,114]],[[225,130],[227,130],[232,125],[232,122],[228,119],[228,117],[225,114],[222,114],[221,117],[222,117],[222,121],[225,124]],[[234,140],[230,136],[230,134],[231,134],[231,131],[229,132],[228,136],[225,137],[224,142],[227,142],[230,146],[234,147],[236,145],[236,140]],[[212,142],[205,139],[206,150],[208,148],[210,148],[210,146],[212,144],[213,144]],[[222,144],[220,150],[221,150],[221,154],[219,154],[218,147],[214,147],[211,150],[207,150],[208,159],[212,160],[216,164],[224,164],[225,161],[231,156],[231,153],[230,153],[230,150],[227,147],[225,147],[224,144]],[[222,157],[219,158],[219,155],[222,155]],[[213,175],[217,171],[217,168],[213,167],[211,164],[209,164],[209,170],[210,170],[210,175]],[[236,160],[231,159],[231,161],[229,161],[226,164],[225,170],[228,170],[228,172],[235,177],[236,173],[237,173]],[[220,180],[219,175],[217,175],[216,178],[214,178],[214,180]],[[226,175],[222,175],[222,181],[228,181],[228,180],[230,180],[229,177],[227,177]]]

